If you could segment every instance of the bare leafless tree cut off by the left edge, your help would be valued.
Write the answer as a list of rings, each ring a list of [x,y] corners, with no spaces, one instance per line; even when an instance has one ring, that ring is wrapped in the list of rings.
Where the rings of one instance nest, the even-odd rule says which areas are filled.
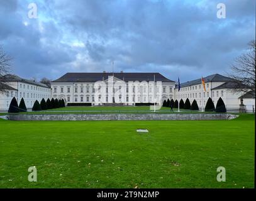
[[[9,57],[0,46],[0,94],[5,94],[7,90],[4,84],[4,75],[11,71],[11,57]]]

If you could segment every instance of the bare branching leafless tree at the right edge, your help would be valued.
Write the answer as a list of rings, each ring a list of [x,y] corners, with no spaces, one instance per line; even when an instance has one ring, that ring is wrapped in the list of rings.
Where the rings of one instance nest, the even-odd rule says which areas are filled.
[[[236,58],[233,65],[231,65],[232,73],[230,73],[230,77],[235,79],[232,90],[243,93],[248,92],[255,98],[255,40],[250,41],[248,47],[247,52]]]

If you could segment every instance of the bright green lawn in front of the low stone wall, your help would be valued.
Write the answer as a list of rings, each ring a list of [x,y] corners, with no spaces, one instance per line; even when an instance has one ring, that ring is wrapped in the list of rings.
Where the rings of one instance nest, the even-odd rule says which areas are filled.
[[[253,188],[254,122],[0,120],[0,188]]]

